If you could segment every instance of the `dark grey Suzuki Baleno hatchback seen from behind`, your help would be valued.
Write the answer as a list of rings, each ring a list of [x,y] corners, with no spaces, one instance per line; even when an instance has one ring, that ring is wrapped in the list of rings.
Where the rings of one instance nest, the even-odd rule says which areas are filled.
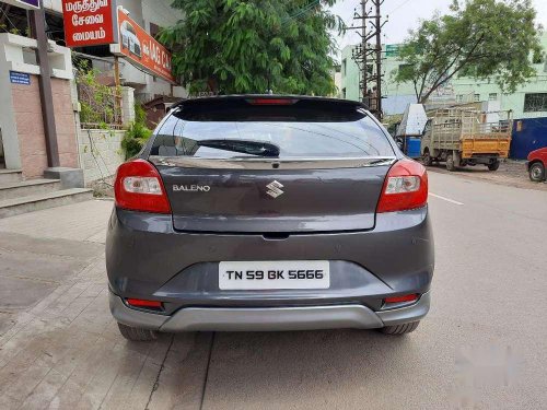
[[[416,329],[434,255],[426,169],[358,102],[187,99],[119,166],[110,311],[159,331]]]

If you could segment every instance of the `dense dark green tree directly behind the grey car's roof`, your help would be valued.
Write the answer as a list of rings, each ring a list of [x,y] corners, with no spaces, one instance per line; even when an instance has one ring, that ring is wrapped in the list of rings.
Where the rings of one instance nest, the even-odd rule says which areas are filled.
[[[191,92],[327,95],[335,91],[336,0],[174,0],[185,19],[160,40]]]

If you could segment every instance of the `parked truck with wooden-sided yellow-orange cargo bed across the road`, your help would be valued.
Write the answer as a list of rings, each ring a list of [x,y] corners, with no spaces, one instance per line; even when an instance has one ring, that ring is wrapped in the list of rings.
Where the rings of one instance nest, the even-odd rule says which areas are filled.
[[[509,156],[512,112],[485,113],[474,107],[440,108],[432,113],[421,140],[423,164],[445,162],[446,169],[486,165],[497,171]]]

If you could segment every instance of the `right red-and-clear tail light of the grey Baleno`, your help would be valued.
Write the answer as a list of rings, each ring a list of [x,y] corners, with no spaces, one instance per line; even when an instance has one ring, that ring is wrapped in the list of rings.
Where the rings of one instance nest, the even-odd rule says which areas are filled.
[[[377,212],[421,208],[428,203],[428,174],[416,161],[404,159],[392,166],[384,181]]]

